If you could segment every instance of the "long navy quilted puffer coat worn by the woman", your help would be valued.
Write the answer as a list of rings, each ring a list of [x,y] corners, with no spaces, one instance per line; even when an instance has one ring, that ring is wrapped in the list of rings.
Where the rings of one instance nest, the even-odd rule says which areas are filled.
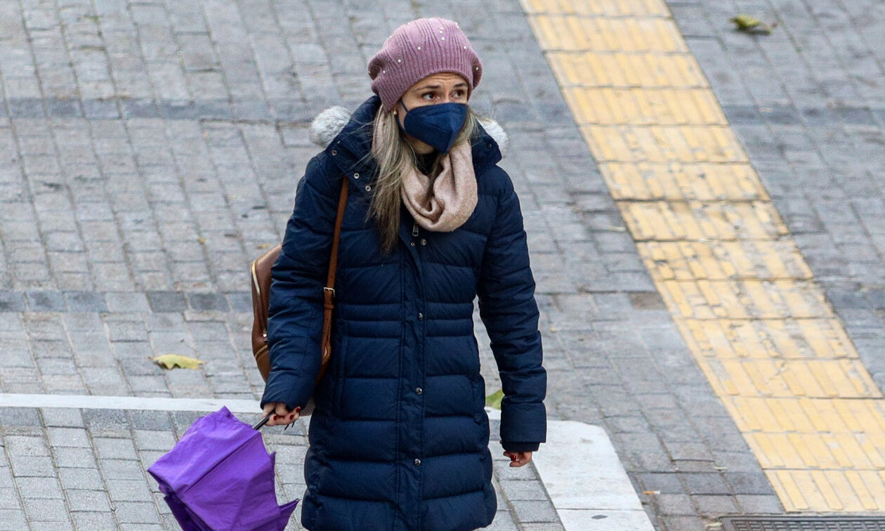
[[[366,157],[372,96],[298,182],[273,266],[271,373],[262,405],[314,394],[302,524],[312,531],[457,531],[496,512],[489,419],[473,335],[473,299],[504,386],[505,450],[544,441],[535,281],[519,199],[496,142],[473,138],[479,201],[450,233],[416,228],[403,206],[400,242],[381,254],[366,221],[377,166]],[[368,124],[368,126],[366,126]],[[362,159],[362,161],[360,161]],[[341,180],[350,181],[335,281],[332,361],[319,372],[322,293]]]

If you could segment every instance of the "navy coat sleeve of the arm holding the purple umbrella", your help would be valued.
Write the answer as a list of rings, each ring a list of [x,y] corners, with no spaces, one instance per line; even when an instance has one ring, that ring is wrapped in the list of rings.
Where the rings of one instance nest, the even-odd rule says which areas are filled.
[[[319,374],[323,288],[338,206],[338,194],[320,163],[323,156],[312,158],[298,181],[295,209],[280,257],[271,269],[267,312],[271,372],[262,407],[282,402],[290,410],[304,408]]]

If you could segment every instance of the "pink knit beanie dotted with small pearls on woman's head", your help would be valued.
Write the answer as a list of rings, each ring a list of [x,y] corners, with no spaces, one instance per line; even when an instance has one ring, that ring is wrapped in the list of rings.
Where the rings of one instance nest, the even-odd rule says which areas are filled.
[[[471,91],[482,76],[467,35],[447,19],[416,19],[397,27],[369,61],[372,91],[387,111],[416,82],[440,72],[461,74]]]

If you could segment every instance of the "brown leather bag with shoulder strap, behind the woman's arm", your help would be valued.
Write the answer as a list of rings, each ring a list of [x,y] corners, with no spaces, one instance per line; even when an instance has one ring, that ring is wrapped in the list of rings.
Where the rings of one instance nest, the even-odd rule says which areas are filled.
[[[326,288],[323,289],[323,335],[322,359],[320,360],[317,382],[326,373],[329,359],[332,358],[332,310],[335,308],[335,269],[338,266],[338,238],[341,235],[341,222],[347,206],[347,179],[342,179],[341,196],[338,198],[338,213],[335,218],[335,234],[332,236],[332,256],[329,257],[329,271]],[[252,353],[261,377],[267,380],[271,372],[271,358],[267,349],[267,312],[270,308],[271,267],[280,256],[281,244],[277,243],[265,254],[252,262],[252,310],[255,321],[252,323]],[[313,398],[299,413],[305,417],[313,412]]]

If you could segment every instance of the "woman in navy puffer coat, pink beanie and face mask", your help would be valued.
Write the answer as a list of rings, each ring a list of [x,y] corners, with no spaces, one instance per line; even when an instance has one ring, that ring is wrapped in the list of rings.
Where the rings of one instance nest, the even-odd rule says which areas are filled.
[[[376,96],[323,112],[273,266],[269,425],[316,409],[301,521],[312,531],[469,530],[491,523],[489,419],[473,298],[501,373],[511,466],[543,443],[546,373],[535,281],[497,142],[467,107],[481,64],[458,25],[398,27],[369,62]],[[489,130],[499,129],[487,122]],[[428,175],[433,176],[429,178]],[[349,181],[329,370],[323,286]]]

